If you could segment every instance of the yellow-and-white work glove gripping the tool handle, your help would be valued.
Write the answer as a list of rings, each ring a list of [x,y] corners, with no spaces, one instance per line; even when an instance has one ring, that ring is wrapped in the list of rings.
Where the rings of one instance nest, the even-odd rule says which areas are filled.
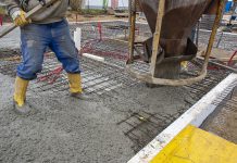
[[[13,12],[12,18],[16,26],[24,26],[26,24],[29,24],[32,21],[25,17],[26,13],[23,10],[17,10]]]

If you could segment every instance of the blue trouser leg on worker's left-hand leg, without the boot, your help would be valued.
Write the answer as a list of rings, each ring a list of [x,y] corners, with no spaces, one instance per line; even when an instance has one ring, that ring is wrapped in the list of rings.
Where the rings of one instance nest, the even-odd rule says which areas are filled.
[[[22,63],[17,66],[17,76],[26,80],[35,79],[42,70],[43,53],[50,42],[50,33],[46,25],[30,24],[21,29]]]

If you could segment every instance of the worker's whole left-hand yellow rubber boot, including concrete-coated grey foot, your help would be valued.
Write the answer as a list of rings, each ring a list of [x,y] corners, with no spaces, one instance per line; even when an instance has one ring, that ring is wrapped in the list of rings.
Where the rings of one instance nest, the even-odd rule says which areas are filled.
[[[26,90],[28,87],[28,80],[25,80],[21,77],[15,79],[15,92],[14,92],[14,111],[17,114],[28,114],[32,111],[32,108],[26,103]]]

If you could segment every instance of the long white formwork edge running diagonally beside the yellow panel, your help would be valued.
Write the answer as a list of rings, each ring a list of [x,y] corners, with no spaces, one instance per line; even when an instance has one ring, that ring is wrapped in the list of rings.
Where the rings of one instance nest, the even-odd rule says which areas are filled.
[[[148,146],[140,150],[128,163],[148,163],[188,125],[199,127],[203,121],[216,109],[213,103],[220,98],[219,103],[235,87],[237,74],[230,74],[201,100],[192,105],[187,112],[179,116],[174,123],[159,134]]]

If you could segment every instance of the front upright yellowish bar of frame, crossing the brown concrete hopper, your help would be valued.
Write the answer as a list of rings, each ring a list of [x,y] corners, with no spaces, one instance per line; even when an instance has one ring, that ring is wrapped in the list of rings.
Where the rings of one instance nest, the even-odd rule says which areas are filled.
[[[152,77],[154,76],[154,71],[157,65],[157,58],[158,58],[158,50],[159,50],[159,42],[160,42],[160,35],[161,35],[161,25],[164,15],[164,5],[165,5],[165,0],[160,0],[158,7],[157,26],[155,26],[155,32],[153,34],[153,49],[152,49],[152,57],[151,57]]]

